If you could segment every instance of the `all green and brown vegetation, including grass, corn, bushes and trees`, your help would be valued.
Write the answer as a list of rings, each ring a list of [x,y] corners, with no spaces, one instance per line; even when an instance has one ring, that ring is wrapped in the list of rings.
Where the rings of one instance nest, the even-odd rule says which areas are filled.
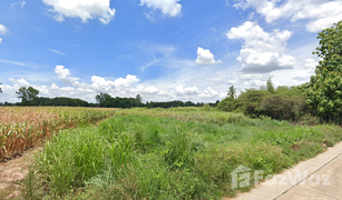
[[[209,104],[143,103],[140,94],[100,93],[92,106],[145,108],[117,110],[97,127],[88,124],[111,110],[6,108],[0,110],[0,158],[50,139],[25,180],[25,199],[218,199],[248,191],[253,179],[251,187],[232,189],[231,172],[238,166],[262,170],[265,178],[342,140],[339,126],[319,124],[316,118],[341,122],[341,27],[320,33],[315,53],[323,60],[301,87],[275,88],[270,78],[238,97],[232,86],[223,101]],[[17,92],[22,106],[90,106],[38,93],[33,88]],[[61,131],[69,127],[78,129]],[[56,130],[59,134],[52,134]]]

